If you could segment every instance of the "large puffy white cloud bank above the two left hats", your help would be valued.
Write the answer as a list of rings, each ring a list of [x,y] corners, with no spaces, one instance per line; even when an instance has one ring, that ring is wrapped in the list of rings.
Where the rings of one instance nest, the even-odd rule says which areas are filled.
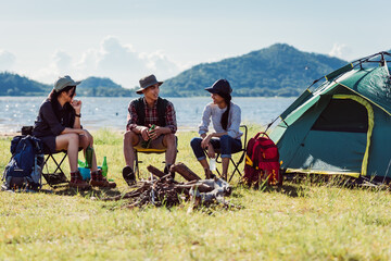
[[[56,50],[52,59],[48,67],[34,73],[34,78],[54,82],[59,75],[66,74],[74,79],[110,77],[123,87],[133,88],[148,74],[155,74],[159,80],[164,80],[181,70],[163,51],[139,52],[131,45],[122,44],[113,36],[105,37],[97,48],[86,50],[78,58]]]

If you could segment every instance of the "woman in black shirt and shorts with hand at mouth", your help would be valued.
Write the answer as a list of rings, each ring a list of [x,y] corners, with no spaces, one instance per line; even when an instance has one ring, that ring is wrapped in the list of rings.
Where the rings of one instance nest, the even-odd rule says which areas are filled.
[[[70,76],[60,77],[48,99],[39,108],[39,114],[34,125],[33,135],[42,140],[47,152],[55,153],[66,150],[71,169],[71,187],[88,188],[90,185],[99,187],[115,187],[109,183],[101,171],[98,171],[97,160],[92,153],[90,185],[83,181],[77,167],[79,148],[93,146],[90,133],[81,128],[81,101],[74,100],[76,86],[80,82]]]

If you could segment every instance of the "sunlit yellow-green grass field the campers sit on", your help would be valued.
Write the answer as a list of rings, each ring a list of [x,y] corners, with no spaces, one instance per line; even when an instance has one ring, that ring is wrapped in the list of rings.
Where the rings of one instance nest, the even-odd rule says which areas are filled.
[[[256,132],[250,128],[250,136]],[[173,209],[123,209],[126,201],[91,200],[127,191],[121,134],[93,134],[98,161],[108,157],[118,187],[87,192],[0,192],[0,260],[389,260],[391,196],[387,190],[336,183],[286,182],[281,189],[236,187],[218,207],[187,213]],[[177,161],[202,169],[189,147],[194,132],[179,132]],[[0,139],[0,170],[11,138]],[[141,156],[163,167],[164,156]],[[64,164],[68,172],[67,163]],[[236,182],[232,182],[235,185]],[[45,187],[49,189],[49,187]]]

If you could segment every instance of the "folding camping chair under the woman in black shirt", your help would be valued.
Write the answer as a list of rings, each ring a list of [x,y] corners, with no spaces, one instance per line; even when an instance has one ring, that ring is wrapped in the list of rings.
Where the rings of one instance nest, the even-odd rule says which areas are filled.
[[[23,126],[22,135],[33,135],[33,126]],[[47,181],[47,184],[53,188],[68,185],[68,179],[66,178],[65,173],[61,169],[61,164],[64,162],[64,160],[67,156],[67,152],[66,152],[66,150],[61,151],[61,152],[64,154],[62,156],[60,161],[56,161],[55,158],[53,157],[53,154],[55,154],[55,153],[51,153],[49,148],[47,148],[43,145],[45,160],[43,160],[43,165],[42,165],[42,176]],[[56,153],[61,153],[61,152],[56,152]],[[51,163],[51,162],[53,162],[53,163]],[[50,172],[49,165],[52,165],[52,164],[54,164],[54,171]],[[41,178],[41,183],[42,183],[42,178]]]

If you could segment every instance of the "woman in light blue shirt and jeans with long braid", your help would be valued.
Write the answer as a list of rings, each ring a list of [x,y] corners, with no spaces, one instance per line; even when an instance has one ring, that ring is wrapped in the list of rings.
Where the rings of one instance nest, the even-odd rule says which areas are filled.
[[[241,121],[240,108],[231,102],[232,89],[226,79],[218,79],[212,87],[206,88],[211,92],[213,102],[207,104],[203,111],[202,122],[199,126],[201,138],[193,138],[190,142],[191,148],[205,170],[206,178],[211,177],[212,172],[206,161],[204,150],[207,150],[210,159],[215,159],[215,150],[220,150],[223,161],[223,177],[227,179],[227,171],[231,153],[241,150],[239,130]],[[209,133],[209,125],[213,124],[215,132]]]

